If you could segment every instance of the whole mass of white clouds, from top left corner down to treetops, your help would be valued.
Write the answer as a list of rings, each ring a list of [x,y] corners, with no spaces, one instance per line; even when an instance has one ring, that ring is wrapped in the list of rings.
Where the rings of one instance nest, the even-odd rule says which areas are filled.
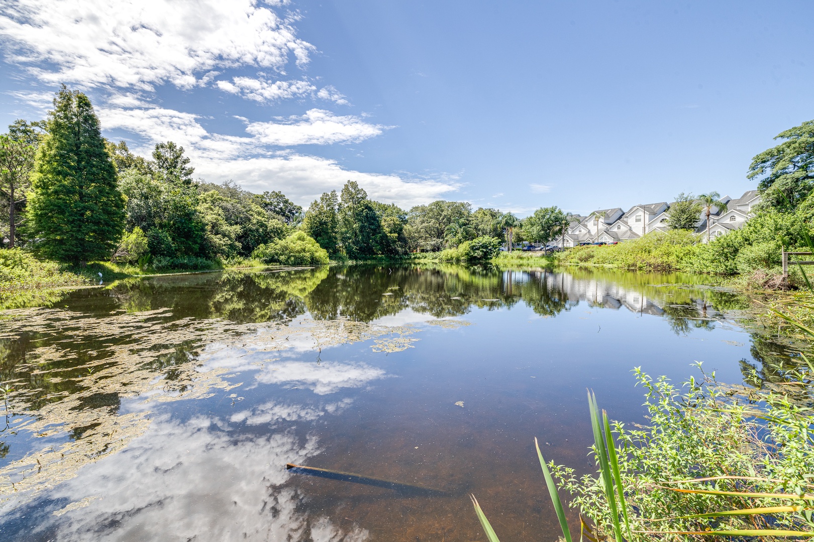
[[[282,190],[304,205],[347,180],[356,180],[374,199],[404,207],[459,189],[455,176],[354,171],[336,159],[294,150],[358,143],[393,127],[371,122],[365,113],[327,111],[329,104],[348,106],[348,98],[331,85],[317,85],[317,77],[287,75],[309,63],[314,47],[296,36],[299,15],[275,12],[285,4],[5,0],[0,44],[6,65],[32,81],[31,91],[16,98],[38,115],[53,94],[39,92],[37,83],[90,90],[103,130],[128,133],[131,148],[144,155],[155,143],[175,141],[192,159],[196,175],[212,182],[233,179],[247,189]],[[257,76],[244,75],[252,68]],[[184,102],[190,109],[160,105],[155,89],[161,85],[188,93]],[[283,119],[243,117],[244,134],[224,135],[195,112],[195,93],[212,89],[261,105],[308,98],[322,101],[322,107]]]

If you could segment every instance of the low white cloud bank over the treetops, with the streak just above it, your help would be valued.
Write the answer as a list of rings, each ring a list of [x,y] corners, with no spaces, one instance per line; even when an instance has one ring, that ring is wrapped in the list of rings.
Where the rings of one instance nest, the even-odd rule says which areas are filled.
[[[133,100],[132,97],[123,97]],[[432,202],[461,187],[458,176],[422,176],[410,179],[395,174],[348,170],[330,158],[303,154],[271,153],[265,149],[270,141],[341,141],[341,137],[365,137],[383,127],[366,124],[356,117],[340,117],[324,111],[309,111],[296,124],[250,123],[254,137],[212,134],[198,122],[198,117],[142,104],[138,109],[100,107],[98,115],[105,129],[120,128],[142,135],[144,145],[132,145],[145,156],[160,141],[175,141],[192,158],[195,175],[210,182],[235,180],[244,188],[264,192],[281,190],[300,205],[309,205],[323,192],[340,189],[355,180],[371,199],[411,206]],[[283,127],[283,128],[280,128]]]

